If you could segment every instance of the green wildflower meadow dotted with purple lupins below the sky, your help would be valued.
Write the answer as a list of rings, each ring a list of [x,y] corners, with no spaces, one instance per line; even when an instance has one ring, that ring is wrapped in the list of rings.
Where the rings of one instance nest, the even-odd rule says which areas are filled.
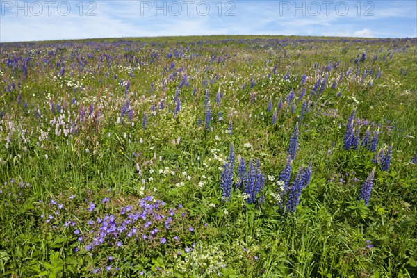
[[[417,277],[417,39],[3,43],[2,277]]]

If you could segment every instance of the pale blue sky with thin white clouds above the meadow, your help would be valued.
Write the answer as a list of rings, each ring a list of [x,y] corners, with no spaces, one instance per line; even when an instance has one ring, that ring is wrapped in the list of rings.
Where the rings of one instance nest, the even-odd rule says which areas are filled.
[[[0,0],[0,42],[167,35],[417,37],[417,1]]]

